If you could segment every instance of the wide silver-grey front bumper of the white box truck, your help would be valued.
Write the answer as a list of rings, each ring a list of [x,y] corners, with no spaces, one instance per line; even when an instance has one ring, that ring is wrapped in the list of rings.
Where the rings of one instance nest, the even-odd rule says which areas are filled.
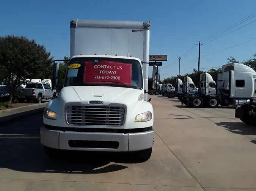
[[[41,144],[50,148],[80,151],[140,151],[152,147],[154,131],[152,127],[143,132],[80,132],[80,128],[41,127]],[[76,129],[76,131],[72,131]],[[95,129],[98,130],[98,129]],[[105,129],[110,130],[110,129]],[[121,129],[119,129],[121,130]],[[125,130],[125,129],[124,129]],[[134,129],[136,130],[136,129]]]

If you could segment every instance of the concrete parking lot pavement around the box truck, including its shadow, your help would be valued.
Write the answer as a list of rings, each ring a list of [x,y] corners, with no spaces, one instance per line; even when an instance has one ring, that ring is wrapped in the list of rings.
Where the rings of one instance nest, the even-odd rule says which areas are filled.
[[[187,108],[151,96],[155,139],[151,159],[74,154],[48,159],[39,140],[42,113],[0,127],[0,190],[256,190],[256,128],[234,108]]]

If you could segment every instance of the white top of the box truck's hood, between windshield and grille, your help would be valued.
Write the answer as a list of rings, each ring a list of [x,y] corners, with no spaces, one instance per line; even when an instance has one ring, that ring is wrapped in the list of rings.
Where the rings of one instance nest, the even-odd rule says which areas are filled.
[[[110,103],[138,102],[143,89],[121,88],[111,86],[69,86],[61,89],[60,99],[64,103],[80,102],[88,104],[89,101],[102,101],[104,105]]]

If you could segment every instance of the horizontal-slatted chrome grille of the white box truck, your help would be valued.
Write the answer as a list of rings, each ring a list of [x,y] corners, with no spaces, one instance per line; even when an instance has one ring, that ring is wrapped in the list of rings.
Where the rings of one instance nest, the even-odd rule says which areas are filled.
[[[124,123],[124,107],[76,106],[66,107],[67,122],[70,125],[120,126]]]

